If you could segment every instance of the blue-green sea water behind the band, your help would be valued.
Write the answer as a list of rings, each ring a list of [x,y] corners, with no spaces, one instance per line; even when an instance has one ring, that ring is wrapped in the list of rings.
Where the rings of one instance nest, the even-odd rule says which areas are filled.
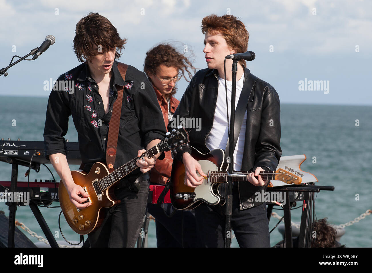
[[[45,97],[0,97],[0,139],[44,141],[43,132],[48,98]],[[333,225],[350,225],[344,228],[340,243],[346,247],[372,247],[372,214],[363,215],[372,209],[372,107],[353,105],[305,105],[281,104],[282,156],[306,155],[301,169],[318,178],[316,185],[334,186],[334,191],[320,191],[315,194],[316,219],[327,218]],[[77,133],[70,117],[70,127],[65,136],[69,142],[77,142]],[[47,165],[60,181],[51,164]],[[0,162],[0,181],[10,181],[11,165]],[[292,168],[296,169],[298,166]],[[70,169],[78,169],[70,165]],[[19,166],[18,181],[27,181],[23,175],[27,168]],[[51,180],[52,176],[41,166],[38,173],[30,172],[30,181]],[[0,189],[1,191],[2,189]],[[301,220],[302,202],[292,209],[292,221]],[[51,207],[40,207],[52,234],[60,243],[65,243],[58,227],[61,209],[54,202]],[[279,208],[278,206],[275,206]],[[0,202],[0,210],[9,216],[5,202]],[[274,212],[283,216],[281,209]],[[16,220],[22,222],[37,235],[45,237],[28,206],[17,207]],[[278,223],[271,218],[269,229]],[[284,222],[280,222],[270,234],[271,246],[283,240],[279,232]],[[20,229],[34,243],[47,246],[36,237]],[[79,241],[61,215],[61,230],[69,241]],[[85,236],[86,239],[87,236]],[[67,244],[67,243],[65,243]],[[156,247],[155,222],[148,228],[148,247]],[[238,247],[235,238],[232,247]]]

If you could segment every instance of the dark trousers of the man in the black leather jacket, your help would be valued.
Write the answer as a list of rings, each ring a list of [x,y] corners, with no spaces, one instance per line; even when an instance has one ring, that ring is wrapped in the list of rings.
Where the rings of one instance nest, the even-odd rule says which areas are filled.
[[[204,203],[194,210],[203,247],[224,247],[225,205]],[[237,187],[232,192],[231,228],[240,247],[270,247],[266,204],[241,211]]]

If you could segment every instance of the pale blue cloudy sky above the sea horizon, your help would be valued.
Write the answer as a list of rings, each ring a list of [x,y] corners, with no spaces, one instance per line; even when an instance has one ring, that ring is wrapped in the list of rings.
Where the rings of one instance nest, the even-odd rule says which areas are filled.
[[[45,82],[80,64],[72,41],[76,23],[89,12],[107,17],[128,39],[119,61],[141,71],[145,53],[161,42],[186,48],[193,65],[206,68],[201,20],[233,14],[250,33],[248,50],[256,53],[248,69],[276,89],[281,103],[372,105],[372,88],[365,85],[371,78],[372,1],[363,0],[0,0],[0,68],[45,36],[56,40],[35,61],[9,68],[0,77],[0,96],[48,97]],[[178,82],[176,98],[187,84]]]

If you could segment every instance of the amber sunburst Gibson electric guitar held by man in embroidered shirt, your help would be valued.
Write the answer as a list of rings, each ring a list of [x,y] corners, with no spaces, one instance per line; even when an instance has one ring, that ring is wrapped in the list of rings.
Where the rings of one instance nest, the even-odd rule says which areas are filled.
[[[142,156],[151,158],[158,153],[169,151],[177,145],[182,145],[187,142],[189,142],[189,137],[184,128],[173,129],[171,133],[167,133],[167,137],[163,141],[147,150]],[[89,198],[86,202],[90,202],[92,205],[84,209],[76,208],[68,196],[64,183],[60,183],[58,196],[61,208],[68,225],[70,225],[76,233],[81,235],[88,234],[102,224],[105,217],[105,210],[103,208],[110,208],[120,202],[120,200],[115,199],[113,194],[114,187],[112,186],[133,170],[137,169],[138,166],[136,163],[140,158],[141,157],[136,157],[132,159],[111,173],[108,168],[100,162],[94,163],[88,174],[77,170],[71,171],[74,182],[80,185],[84,191],[89,194]]]

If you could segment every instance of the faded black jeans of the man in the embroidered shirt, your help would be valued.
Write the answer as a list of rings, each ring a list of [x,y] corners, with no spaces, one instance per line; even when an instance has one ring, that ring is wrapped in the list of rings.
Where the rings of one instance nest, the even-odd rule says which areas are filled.
[[[140,190],[133,185],[115,189],[118,205],[106,209],[102,225],[88,234],[91,247],[134,247],[146,212],[148,181],[138,183]]]

